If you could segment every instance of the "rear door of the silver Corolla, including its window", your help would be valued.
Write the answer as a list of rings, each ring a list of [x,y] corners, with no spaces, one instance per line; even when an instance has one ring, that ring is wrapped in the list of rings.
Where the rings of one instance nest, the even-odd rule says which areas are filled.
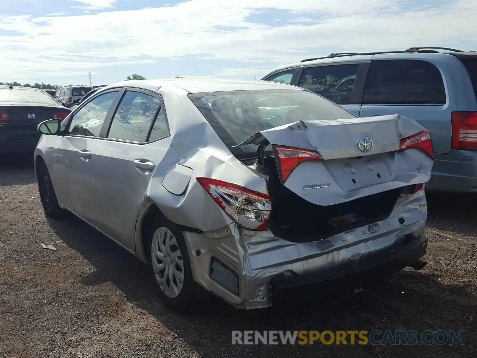
[[[171,138],[162,99],[128,88],[94,148],[95,226],[135,251],[135,224],[152,172]]]

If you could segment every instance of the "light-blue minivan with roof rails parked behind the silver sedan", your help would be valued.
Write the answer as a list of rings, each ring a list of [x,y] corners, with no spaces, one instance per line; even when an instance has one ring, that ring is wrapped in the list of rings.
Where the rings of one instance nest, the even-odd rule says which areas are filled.
[[[415,119],[434,145],[426,190],[477,192],[477,53],[442,47],[332,53],[261,79],[307,88],[360,117]]]

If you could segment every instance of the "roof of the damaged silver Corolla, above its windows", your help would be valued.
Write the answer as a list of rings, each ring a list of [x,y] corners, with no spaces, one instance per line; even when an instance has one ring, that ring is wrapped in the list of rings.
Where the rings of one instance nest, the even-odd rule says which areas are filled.
[[[114,87],[138,87],[157,92],[161,87],[174,85],[188,93],[219,92],[219,91],[247,91],[247,90],[303,90],[300,87],[277,82],[265,82],[257,80],[235,79],[211,79],[211,78],[173,78],[158,80],[131,80],[110,84],[103,87],[106,90]]]

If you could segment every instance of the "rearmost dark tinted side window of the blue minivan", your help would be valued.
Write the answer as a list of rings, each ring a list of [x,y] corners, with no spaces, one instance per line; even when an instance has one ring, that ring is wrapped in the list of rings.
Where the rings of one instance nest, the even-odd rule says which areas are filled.
[[[446,104],[442,75],[435,65],[420,60],[371,61],[363,105]]]

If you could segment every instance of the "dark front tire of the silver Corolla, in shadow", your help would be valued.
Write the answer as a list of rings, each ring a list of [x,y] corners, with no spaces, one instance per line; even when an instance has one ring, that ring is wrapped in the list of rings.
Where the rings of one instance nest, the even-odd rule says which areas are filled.
[[[67,211],[63,210],[58,205],[52,179],[50,178],[50,172],[43,160],[38,163],[36,173],[41,205],[43,206],[45,215],[51,219],[62,219],[67,216]]]

